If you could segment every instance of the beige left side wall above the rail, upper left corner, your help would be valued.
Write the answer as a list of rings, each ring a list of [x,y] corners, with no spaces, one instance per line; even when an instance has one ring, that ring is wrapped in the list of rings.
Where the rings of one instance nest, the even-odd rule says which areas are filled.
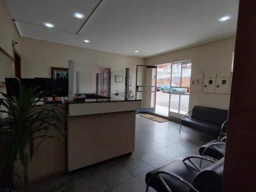
[[[0,47],[3,48],[9,55],[13,56],[12,39],[19,42],[19,35],[3,0],[0,0],[0,26]],[[15,48],[19,51],[19,43],[15,46]]]

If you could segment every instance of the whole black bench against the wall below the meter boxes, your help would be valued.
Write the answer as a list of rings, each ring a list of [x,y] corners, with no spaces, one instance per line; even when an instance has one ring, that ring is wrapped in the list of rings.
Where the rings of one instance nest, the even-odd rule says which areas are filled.
[[[187,117],[192,113],[191,117]],[[212,136],[220,135],[222,124],[228,118],[228,111],[216,108],[207,108],[205,106],[195,105],[191,112],[188,112],[181,119],[181,126],[185,125],[192,129],[200,130]]]

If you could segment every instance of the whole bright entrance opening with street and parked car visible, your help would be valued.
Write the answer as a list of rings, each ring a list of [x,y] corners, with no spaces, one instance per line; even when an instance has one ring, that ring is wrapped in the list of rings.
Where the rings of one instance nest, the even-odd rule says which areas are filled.
[[[183,118],[188,112],[191,60],[157,66],[155,113],[166,117]]]

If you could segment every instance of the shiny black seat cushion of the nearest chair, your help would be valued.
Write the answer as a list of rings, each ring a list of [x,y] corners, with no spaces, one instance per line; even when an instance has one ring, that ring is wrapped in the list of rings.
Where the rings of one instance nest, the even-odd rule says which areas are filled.
[[[148,172],[146,174],[146,178],[145,178],[146,183],[147,183],[148,179],[155,172],[157,172],[159,170],[164,170],[165,172],[170,172],[170,173],[176,174],[176,175],[180,176],[181,178],[185,179],[189,183],[193,183],[194,179],[196,178],[197,174],[199,173],[198,170],[191,167],[187,163],[184,163],[181,160],[174,160],[166,165],[163,165],[157,169],[152,170],[151,172]],[[167,175],[163,175],[163,174],[161,174],[161,177],[163,178],[163,180],[166,182],[166,184],[172,191],[180,191],[180,192],[188,192],[189,191],[189,187],[184,185],[178,179],[176,179],[174,177],[167,176]],[[157,191],[162,191],[162,192],[167,191],[164,188],[163,184],[161,183],[161,181],[159,180],[158,177],[154,177],[151,180],[150,186],[153,187]]]

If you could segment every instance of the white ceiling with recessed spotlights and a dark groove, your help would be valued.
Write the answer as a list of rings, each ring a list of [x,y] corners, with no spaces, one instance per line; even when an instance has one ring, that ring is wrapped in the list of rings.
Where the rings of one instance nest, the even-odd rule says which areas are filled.
[[[103,0],[76,34],[98,2],[6,0],[5,4],[23,37],[128,56],[150,57],[236,34],[239,0]],[[85,17],[77,19],[74,12]],[[231,19],[221,23],[218,18],[225,15]],[[45,22],[55,27],[47,28]]]

